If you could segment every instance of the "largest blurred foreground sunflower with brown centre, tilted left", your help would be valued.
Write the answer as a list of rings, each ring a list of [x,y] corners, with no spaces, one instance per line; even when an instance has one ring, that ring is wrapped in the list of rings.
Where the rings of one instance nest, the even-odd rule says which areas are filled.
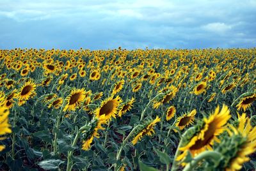
[[[214,141],[220,142],[217,138],[218,135],[223,133],[225,128],[223,126],[230,119],[230,111],[226,105],[223,105],[220,111],[218,106],[215,109],[214,114],[210,115],[209,118],[204,118],[202,128],[199,129],[198,133],[179,148],[179,151],[182,151],[182,154],[177,157],[177,160],[182,160],[188,154],[188,151],[191,152],[192,156],[203,152],[207,149],[212,150],[212,144]]]

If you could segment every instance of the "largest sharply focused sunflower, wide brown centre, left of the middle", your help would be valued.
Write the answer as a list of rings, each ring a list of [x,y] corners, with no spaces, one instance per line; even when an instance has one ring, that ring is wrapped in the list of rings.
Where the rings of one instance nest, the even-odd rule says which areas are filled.
[[[95,115],[97,118],[100,117],[100,115],[105,115],[106,120],[110,121],[111,117],[115,117],[115,114],[118,110],[118,105],[120,104],[121,98],[117,96],[116,98],[109,97],[106,100],[102,101],[99,108],[96,108]]]

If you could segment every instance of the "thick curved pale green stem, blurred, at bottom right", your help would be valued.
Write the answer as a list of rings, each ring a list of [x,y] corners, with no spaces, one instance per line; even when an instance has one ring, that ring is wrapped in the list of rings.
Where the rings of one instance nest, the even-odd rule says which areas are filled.
[[[188,165],[186,165],[183,171],[193,170],[193,168],[196,167],[196,164],[204,160],[205,158],[209,158],[211,160],[214,160],[215,162],[218,162],[221,159],[221,154],[220,152],[216,152],[216,151],[201,152],[200,154],[198,154],[198,156],[194,158],[193,161],[191,161],[191,163],[188,163]]]

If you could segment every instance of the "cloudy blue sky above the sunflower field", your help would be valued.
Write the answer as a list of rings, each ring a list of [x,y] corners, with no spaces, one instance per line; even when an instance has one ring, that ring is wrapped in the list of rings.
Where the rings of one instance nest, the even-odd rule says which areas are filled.
[[[0,49],[252,48],[256,0],[0,0]]]

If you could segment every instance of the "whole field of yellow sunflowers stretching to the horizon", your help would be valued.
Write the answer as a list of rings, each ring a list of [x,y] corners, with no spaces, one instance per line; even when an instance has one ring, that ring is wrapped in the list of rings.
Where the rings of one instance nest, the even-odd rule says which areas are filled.
[[[0,170],[256,168],[256,48],[17,48],[0,67]]]

